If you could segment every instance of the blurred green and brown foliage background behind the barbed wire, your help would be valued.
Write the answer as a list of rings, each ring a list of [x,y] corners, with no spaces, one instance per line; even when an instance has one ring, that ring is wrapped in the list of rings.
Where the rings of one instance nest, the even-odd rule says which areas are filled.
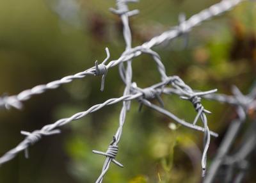
[[[218,1],[141,0],[130,4],[140,14],[131,18],[133,46],[150,40],[178,24],[179,13],[186,17]],[[37,84],[81,72],[106,57],[125,49],[122,23],[109,12],[113,0],[0,0],[0,93],[14,95]],[[256,3],[248,1],[213,20],[204,22],[170,44],[154,47],[168,76],[178,75],[196,90],[218,88],[230,94],[236,84],[250,92],[256,76]],[[145,74],[141,74],[141,68]],[[149,56],[133,61],[133,81],[141,88],[160,81]],[[146,76],[146,77],[145,77]],[[24,109],[0,111],[0,154],[15,147],[23,138],[21,130],[33,131],[88,109],[93,104],[120,97],[124,90],[118,67],[111,68],[104,92],[100,77],[86,77],[24,102]],[[193,106],[177,96],[163,96],[166,109],[191,122]],[[220,134],[212,139],[208,163],[216,154],[234,107],[202,100],[212,111],[209,127]],[[104,157],[92,150],[106,150],[118,127],[122,104],[104,107],[61,128],[60,135],[44,137],[29,148],[29,159],[20,153],[0,168],[0,182],[94,182]],[[104,182],[200,182],[203,134],[175,125],[156,111],[132,102],[119,145],[118,161],[111,164]],[[254,116],[255,117],[255,116]],[[253,115],[250,116],[253,118]],[[246,127],[247,123],[244,124]],[[239,139],[237,139],[239,141]],[[233,147],[236,148],[236,147]],[[252,155],[250,163],[256,163]],[[245,182],[256,182],[255,166]]]

